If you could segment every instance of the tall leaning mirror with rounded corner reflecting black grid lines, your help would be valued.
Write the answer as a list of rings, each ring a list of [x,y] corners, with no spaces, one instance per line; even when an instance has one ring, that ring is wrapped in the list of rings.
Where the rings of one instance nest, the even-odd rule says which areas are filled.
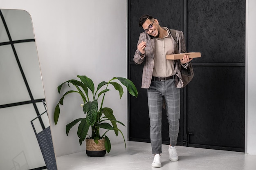
[[[34,31],[27,11],[0,9],[0,79],[0,169],[57,169],[53,146],[50,147]],[[38,134],[42,132],[46,148],[40,145]],[[49,155],[42,149],[53,154],[51,168],[46,167],[45,156]]]

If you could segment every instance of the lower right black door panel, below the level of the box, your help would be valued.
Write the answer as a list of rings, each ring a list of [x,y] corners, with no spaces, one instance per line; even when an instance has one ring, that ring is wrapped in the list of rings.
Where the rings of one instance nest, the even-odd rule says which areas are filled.
[[[194,66],[194,70],[197,74],[187,87],[189,145],[243,151],[245,67]]]

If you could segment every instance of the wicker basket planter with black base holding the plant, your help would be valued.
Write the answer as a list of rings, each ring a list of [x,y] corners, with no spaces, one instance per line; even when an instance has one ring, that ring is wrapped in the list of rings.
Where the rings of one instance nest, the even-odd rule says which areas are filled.
[[[106,155],[105,139],[99,139],[99,144],[96,144],[93,139],[85,139],[86,155],[88,157],[104,157]]]

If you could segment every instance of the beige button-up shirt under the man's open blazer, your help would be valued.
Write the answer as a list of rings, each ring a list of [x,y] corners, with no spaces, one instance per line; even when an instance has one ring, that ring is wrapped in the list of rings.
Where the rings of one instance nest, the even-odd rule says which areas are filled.
[[[165,30],[167,29],[166,27],[162,28]],[[173,60],[166,59],[166,54],[175,53],[169,32],[166,32],[167,35],[163,39],[155,38],[155,60],[153,68],[154,77],[170,77],[175,75],[173,70]]]

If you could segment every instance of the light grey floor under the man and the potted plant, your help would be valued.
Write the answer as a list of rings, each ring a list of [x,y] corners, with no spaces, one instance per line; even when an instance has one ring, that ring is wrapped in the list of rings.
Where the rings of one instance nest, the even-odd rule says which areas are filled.
[[[243,152],[177,146],[179,161],[168,158],[168,145],[162,145],[162,167],[152,168],[149,143],[128,141],[112,145],[105,157],[88,157],[86,152],[57,157],[58,170],[256,170],[256,156]]]

